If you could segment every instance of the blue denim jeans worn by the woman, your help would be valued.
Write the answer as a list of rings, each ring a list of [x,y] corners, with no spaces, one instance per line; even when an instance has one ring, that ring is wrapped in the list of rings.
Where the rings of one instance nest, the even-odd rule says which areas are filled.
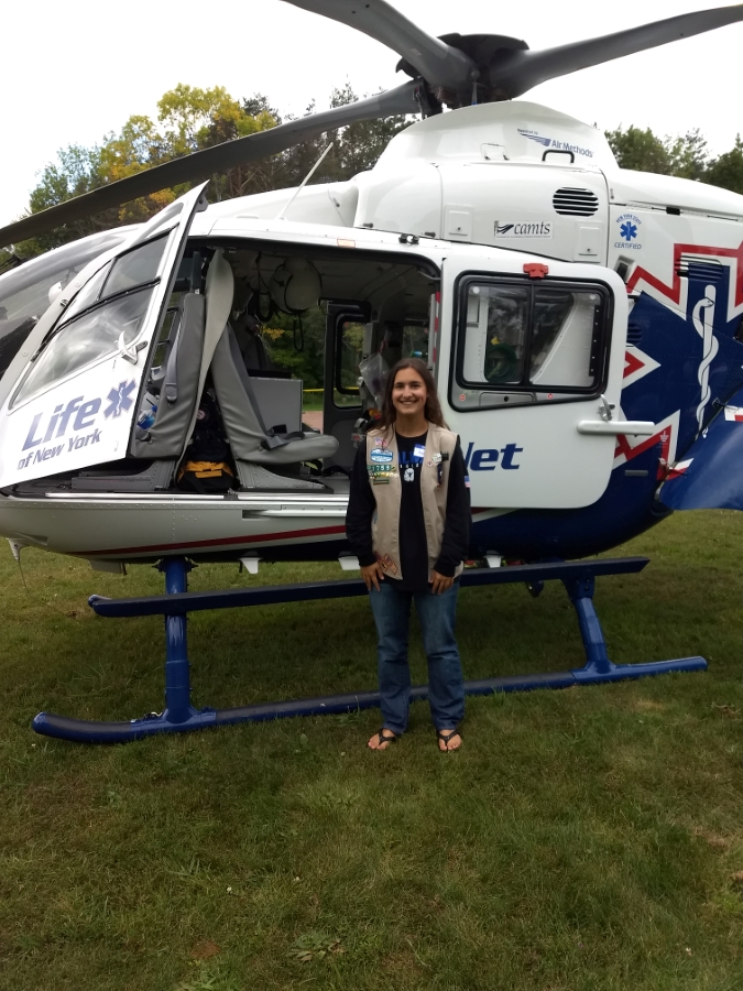
[[[437,730],[454,729],[465,716],[465,682],[455,640],[455,617],[459,582],[434,596],[430,589],[401,591],[394,578],[369,592],[379,634],[379,682],[383,725],[393,733],[407,728],[411,705],[411,669],[407,666],[411,601],[423,631],[428,658],[428,700]]]

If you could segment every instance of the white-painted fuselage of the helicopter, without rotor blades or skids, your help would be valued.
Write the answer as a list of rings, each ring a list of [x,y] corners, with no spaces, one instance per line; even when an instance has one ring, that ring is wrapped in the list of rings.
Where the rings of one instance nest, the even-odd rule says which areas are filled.
[[[155,221],[150,227],[154,238]],[[654,448],[663,468],[677,460],[686,415],[680,406],[658,409],[652,418],[629,417],[623,410],[623,389],[663,374],[662,362],[632,335],[627,340],[629,315],[641,293],[686,320],[691,304],[679,272],[703,259],[730,271],[725,298],[715,298],[714,286],[708,292],[708,324],[714,306],[724,309],[728,324],[743,314],[736,291],[743,197],[620,170],[600,131],[526,102],[428,118],[401,132],[372,171],[348,183],[216,204],[167,237],[156,273],[162,291],[159,296],[153,290],[134,338],[112,339],[108,351],[47,377],[43,389],[23,392],[50,328],[65,319],[65,307],[75,306],[74,294],[94,262],[77,276],[79,286],[63,292],[69,298],[44,314],[0,383],[0,532],[17,545],[75,554],[101,567],[184,554],[342,553],[343,476],[328,477],[321,490],[312,491],[243,486],[227,496],[188,494],[172,484],[146,492],[85,491],[80,479],[90,468],[105,465],[114,477],[111,466],[138,449],[147,356],[186,240],[188,250],[221,252],[237,279],[248,273],[253,291],[251,266],[262,258],[274,264],[312,258],[324,298],[369,308],[367,358],[384,357],[391,325],[425,317],[444,415],[466,453],[481,551],[501,549],[489,521],[524,510],[596,505],[613,472],[631,475],[623,466]],[[258,279],[260,292],[260,272]],[[208,322],[208,281],[206,297]],[[531,370],[510,373],[501,364],[493,371],[494,360],[523,358],[510,325],[501,338],[493,330],[520,306],[520,313],[532,314],[523,317],[523,333],[534,340],[539,307],[548,313],[562,306],[561,323],[538,358],[536,344],[524,352]],[[710,333],[706,340],[702,327],[700,351],[690,358],[700,425]],[[203,362],[206,374],[206,350]],[[328,362],[326,356],[326,371],[334,375]],[[645,384],[653,391],[653,380]],[[343,415],[332,395],[326,375],[326,432],[339,444],[337,464],[348,468],[353,422],[363,410],[351,403]],[[368,405],[372,399],[368,389]],[[184,435],[176,459],[187,442]],[[643,472],[656,483],[655,468],[635,475]],[[597,547],[605,544],[594,541]]]

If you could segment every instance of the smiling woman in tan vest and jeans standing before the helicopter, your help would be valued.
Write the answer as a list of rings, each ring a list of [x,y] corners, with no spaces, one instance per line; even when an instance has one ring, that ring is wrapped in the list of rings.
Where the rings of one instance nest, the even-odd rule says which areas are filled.
[[[428,658],[438,747],[461,744],[465,685],[455,613],[470,522],[459,438],[447,429],[426,364],[405,358],[387,375],[380,427],[359,447],[346,515],[379,634],[383,725],[369,741],[372,750],[386,750],[407,728],[412,601]]]

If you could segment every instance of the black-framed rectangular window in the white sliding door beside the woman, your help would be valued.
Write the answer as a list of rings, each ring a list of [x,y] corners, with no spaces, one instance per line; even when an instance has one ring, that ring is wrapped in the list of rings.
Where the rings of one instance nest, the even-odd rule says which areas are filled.
[[[603,286],[469,277],[459,291],[455,406],[493,405],[498,392],[534,402],[601,390],[610,317]]]

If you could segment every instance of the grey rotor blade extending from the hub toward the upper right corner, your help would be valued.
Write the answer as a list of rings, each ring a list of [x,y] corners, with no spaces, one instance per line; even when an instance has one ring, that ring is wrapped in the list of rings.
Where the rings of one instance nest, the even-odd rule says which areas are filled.
[[[540,83],[546,83],[547,79],[713,31],[736,21],[743,21],[743,3],[680,14],[677,18],[644,24],[642,28],[632,28],[629,31],[573,42],[556,48],[502,52],[498,63],[491,66],[490,85],[494,89],[503,90],[511,98],[517,97]]]

